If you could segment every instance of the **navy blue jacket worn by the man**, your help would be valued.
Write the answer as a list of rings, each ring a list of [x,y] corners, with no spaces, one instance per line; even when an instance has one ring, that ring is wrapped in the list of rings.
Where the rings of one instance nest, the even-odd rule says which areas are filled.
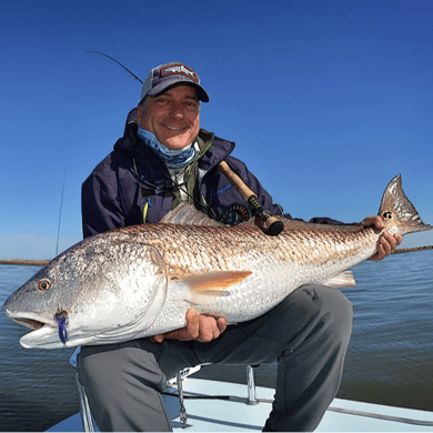
[[[84,238],[109,229],[144,222],[154,223],[172,209],[173,195],[169,191],[158,190],[170,185],[167,167],[157,153],[138,138],[135,119],[137,109],[129,113],[124,134],[114,144],[114,150],[97,165],[82,184]],[[219,218],[232,203],[244,202],[238,190],[218,170],[218,164],[224,160],[258,194],[263,209],[273,214],[281,214],[281,207],[273,202],[271,195],[248,171],[245,164],[230,155],[234,143],[219,139],[204,130],[201,130],[201,133],[211,137],[213,143],[198,162],[194,191],[197,201],[193,202],[195,207],[212,218]],[[149,182],[144,187],[137,179],[133,160],[135,160],[138,174]],[[144,213],[145,221],[143,221]],[[291,218],[289,214],[285,216]],[[329,219],[312,221],[338,223]]]

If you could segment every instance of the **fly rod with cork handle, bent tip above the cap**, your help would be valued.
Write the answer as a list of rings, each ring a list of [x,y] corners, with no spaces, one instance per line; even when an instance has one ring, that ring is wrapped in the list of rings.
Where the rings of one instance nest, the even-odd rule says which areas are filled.
[[[122,67],[132,79],[139,81],[140,83],[143,83],[143,81],[140,80],[132,71],[130,71],[125,66],[118,62],[112,57],[107,56],[107,54],[99,52],[99,51],[93,51],[93,50],[88,50],[88,52],[90,52],[92,54],[99,54],[99,56],[102,56],[109,60],[112,60],[113,62],[115,62],[120,67]],[[229,179],[229,181],[233,184],[233,187],[241,193],[244,201],[254,211],[255,215],[258,216],[258,218],[255,218],[255,225],[258,225],[265,234],[270,234],[270,235],[280,234],[282,232],[282,230],[284,229],[284,224],[278,218],[272,215],[270,211],[264,210],[261,207],[261,204],[259,203],[259,200],[258,200],[258,195],[253,191],[251,191],[250,188],[246,187],[245,182],[243,182],[243,180],[230,169],[229,164],[225,161],[221,161],[220,164],[218,165],[218,169],[221,173],[223,173]],[[179,189],[180,189],[180,187],[179,187]],[[192,200],[194,200],[197,202],[197,200],[188,191],[185,191],[184,189],[182,189],[182,191],[187,192],[187,194]],[[201,205],[201,203],[199,203],[199,204]],[[242,204],[242,203],[234,203],[234,204]],[[210,208],[210,209],[213,212],[213,209],[212,208]],[[232,207],[231,211],[236,212],[238,211],[236,207]],[[242,221],[244,212],[242,212],[242,210],[240,210],[239,212],[240,212],[240,218],[238,218],[238,220]]]

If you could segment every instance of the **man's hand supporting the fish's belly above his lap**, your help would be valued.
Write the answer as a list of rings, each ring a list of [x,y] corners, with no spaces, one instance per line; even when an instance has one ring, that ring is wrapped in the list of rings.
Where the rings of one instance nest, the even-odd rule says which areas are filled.
[[[187,311],[187,326],[181,330],[168,332],[152,336],[150,340],[157,343],[162,343],[165,339],[191,341],[195,340],[200,343],[208,343],[218,339],[226,328],[224,318],[213,318],[212,315],[198,314],[192,306]]]

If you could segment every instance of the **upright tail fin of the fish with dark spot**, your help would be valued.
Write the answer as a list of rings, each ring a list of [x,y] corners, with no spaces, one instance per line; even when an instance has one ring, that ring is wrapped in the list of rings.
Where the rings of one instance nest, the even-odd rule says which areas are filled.
[[[433,229],[432,225],[422,222],[415,207],[404,194],[401,174],[387,184],[382,197],[379,215],[382,216],[386,230],[392,234],[403,235]]]

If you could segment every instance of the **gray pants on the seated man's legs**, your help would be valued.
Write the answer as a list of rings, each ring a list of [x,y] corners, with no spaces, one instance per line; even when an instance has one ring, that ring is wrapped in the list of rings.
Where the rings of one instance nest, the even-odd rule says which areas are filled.
[[[352,304],[335,289],[298,289],[266,314],[210,343],[83,346],[79,380],[102,432],[170,432],[161,392],[167,377],[203,363],[278,362],[275,401],[264,431],[313,431],[340,387],[352,331]]]

